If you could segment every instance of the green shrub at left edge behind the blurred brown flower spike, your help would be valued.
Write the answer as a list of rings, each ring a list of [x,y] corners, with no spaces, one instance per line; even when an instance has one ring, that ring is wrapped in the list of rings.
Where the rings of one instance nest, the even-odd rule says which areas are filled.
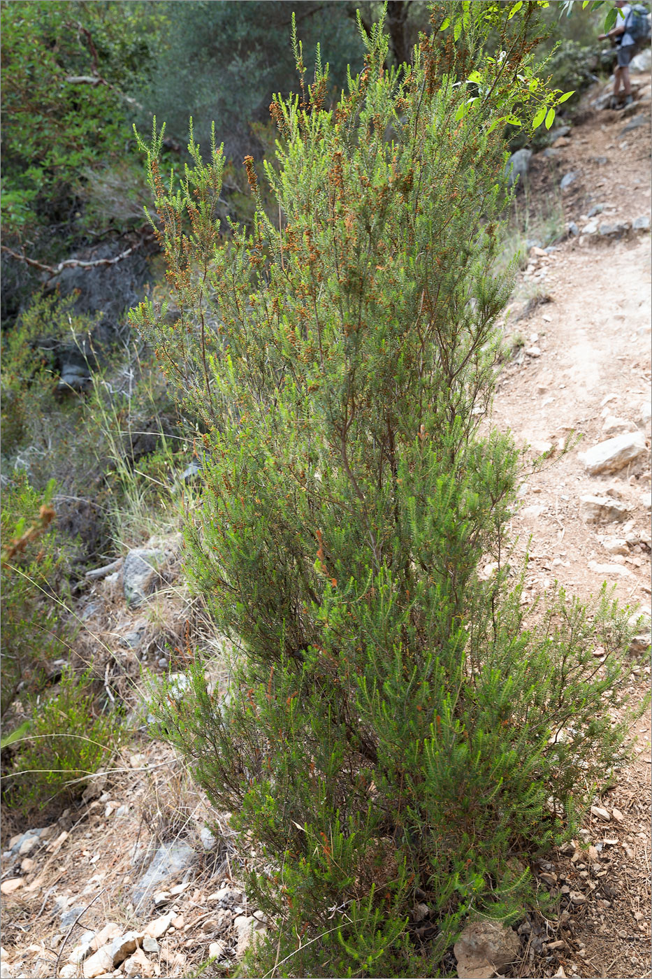
[[[19,693],[33,697],[43,688],[53,660],[68,655],[72,630],[60,602],[68,595],[68,555],[54,530],[50,503],[18,474],[2,494],[2,688],[5,731]]]

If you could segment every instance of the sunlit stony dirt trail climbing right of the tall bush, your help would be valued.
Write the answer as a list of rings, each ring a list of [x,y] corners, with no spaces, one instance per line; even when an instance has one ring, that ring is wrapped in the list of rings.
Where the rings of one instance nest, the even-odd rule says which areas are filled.
[[[531,476],[521,490],[523,506],[513,531],[522,550],[532,536],[527,598],[556,579],[586,599],[606,580],[623,602],[639,603],[641,611],[650,607],[650,236],[631,228],[645,215],[649,228],[647,106],[643,112],[645,124],[628,133],[623,129],[629,120],[617,113],[589,114],[560,141],[550,162],[542,156],[533,161],[531,201],[554,193],[560,177],[574,171],[576,179],[561,194],[566,221],[582,231],[590,210],[604,205],[595,217],[598,226],[606,221],[629,229],[571,236],[549,256],[531,252],[515,296],[525,299],[534,292],[548,301],[517,322],[524,306],[514,303],[507,317],[506,333],[521,333],[525,348],[501,376],[492,424],[510,428],[518,443],[532,445],[533,456],[550,445],[556,449],[571,430],[582,435],[575,449]],[[644,435],[647,451],[613,475],[590,476],[580,453],[616,434],[604,431],[606,415],[623,419],[626,431]],[[626,520],[584,523],[581,497],[586,494],[620,500],[629,511]],[[607,541],[620,550],[610,553],[606,537],[628,543],[622,539],[618,547]],[[641,667],[632,692],[642,696],[649,682],[649,666]],[[609,821],[588,816],[578,840],[596,847],[590,858],[569,847],[541,867],[557,878],[557,888],[581,892],[585,901],[567,920],[544,924],[538,936],[535,926],[535,941],[518,975],[625,979],[652,972],[649,714],[631,734],[637,739],[635,762],[594,800]],[[546,949],[545,942],[555,940],[563,945]]]

